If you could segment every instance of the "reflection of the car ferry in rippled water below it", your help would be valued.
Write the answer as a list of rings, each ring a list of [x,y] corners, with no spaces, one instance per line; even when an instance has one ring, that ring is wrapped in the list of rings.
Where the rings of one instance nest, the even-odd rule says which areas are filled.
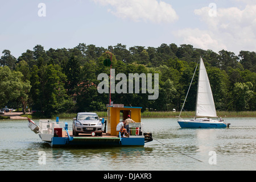
[[[119,165],[131,164],[143,158],[152,148],[115,147],[115,148],[38,148],[46,152],[46,166],[56,170],[112,170]],[[40,166],[38,166],[40,168]],[[41,166],[43,167],[43,166]],[[45,167],[45,166],[44,166]],[[74,168],[75,167],[75,168]]]

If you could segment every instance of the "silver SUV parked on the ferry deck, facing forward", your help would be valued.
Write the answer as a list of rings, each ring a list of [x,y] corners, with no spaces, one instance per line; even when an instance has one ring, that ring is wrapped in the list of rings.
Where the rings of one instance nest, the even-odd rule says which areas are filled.
[[[73,135],[77,137],[79,133],[96,134],[102,136],[102,118],[98,118],[96,113],[77,113],[73,118]]]

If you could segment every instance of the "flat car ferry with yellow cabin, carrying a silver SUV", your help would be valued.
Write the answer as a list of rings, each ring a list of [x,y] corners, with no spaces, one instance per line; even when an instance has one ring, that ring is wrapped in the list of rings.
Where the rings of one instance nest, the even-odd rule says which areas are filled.
[[[102,147],[102,146],[144,146],[152,141],[152,134],[145,133],[141,122],[142,107],[126,107],[121,104],[107,106],[108,118],[98,118],[96,113],[87,113],[91,119],[85,117],[86,113],[77,114],[73,118],[72,131],[68,130],[67,122],[59,122],[49,119],[40,119],[39,125],[28,118],[28,127],[39,134],[43,142],[51,147]],[[126,120],[127,116],[135,121],[129,124],[129,135],[122,137],[117,131],[120,121]]]

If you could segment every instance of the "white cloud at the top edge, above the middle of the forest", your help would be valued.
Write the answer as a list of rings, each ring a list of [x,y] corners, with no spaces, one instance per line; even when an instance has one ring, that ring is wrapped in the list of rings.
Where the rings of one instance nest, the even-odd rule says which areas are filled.
[[[93,0],[103,6],[110,5],[113,15],[135,22],[172,23],[179,17],[172,6],[156,0]]]

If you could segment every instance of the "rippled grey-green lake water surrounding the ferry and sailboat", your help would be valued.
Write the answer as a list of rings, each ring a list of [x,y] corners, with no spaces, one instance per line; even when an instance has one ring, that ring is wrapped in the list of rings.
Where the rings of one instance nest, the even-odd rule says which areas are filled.
[[[71,129],[72,119],[60,121]],[[226,118],[229,129],[180,129],[176,118],[142,122],[155,139],[144,147],[84,149],[51,148],[27,120],[0,121],[0,170],[256,170],[256,118]],[[46,154],[45,164],[39,164],[39,152]]]

